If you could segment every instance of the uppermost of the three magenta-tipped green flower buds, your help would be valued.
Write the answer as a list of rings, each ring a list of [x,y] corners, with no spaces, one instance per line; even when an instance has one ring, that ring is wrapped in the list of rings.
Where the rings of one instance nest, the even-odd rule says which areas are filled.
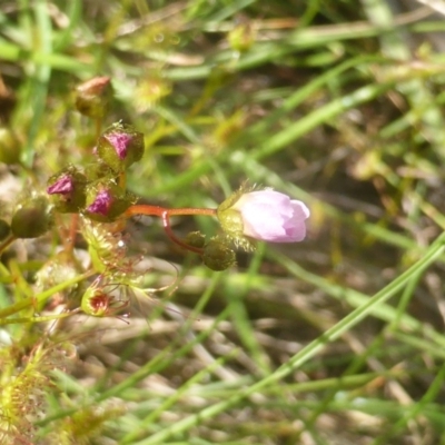
[[[98,140],[97,156],[115,171],[123,171],[144,155],[144,135],[131,126],[113,123]]]

